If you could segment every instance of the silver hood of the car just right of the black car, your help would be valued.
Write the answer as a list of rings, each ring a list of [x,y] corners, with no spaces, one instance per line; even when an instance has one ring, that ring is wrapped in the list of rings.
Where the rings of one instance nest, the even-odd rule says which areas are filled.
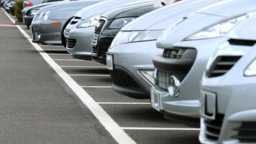
[[[221,0],[183,0],[176,2],[140,16],[121,30],[166,30],[170,26],[170,22],[175,22],[191,12],[219,1]]]

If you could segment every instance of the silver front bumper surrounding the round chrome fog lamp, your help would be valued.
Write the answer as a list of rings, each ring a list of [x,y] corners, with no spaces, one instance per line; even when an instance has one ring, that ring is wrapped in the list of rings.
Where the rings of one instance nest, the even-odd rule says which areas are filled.
[[[154,103],[152,103],[152,107],[158,111],[163,111],[166,114],[169,113],[170,115],[176,114],[180,116],[200,118],[200,80],[210,55],[216,50],[219,42],[224,40],[226,40],[226,38],[212,38],[175,43],[174,47],[196,49],[196,58],[185,78],[180,82],[179,94],[177,97],[171,96],[168,91],[160,89],[159,86],[155,86],[152,89],[154,92],[159,93],[159,107],[154,106]],[[154,59],[154,64],[155,61],[158,60],[159,62],[156,63],[161,64],[162,62],[160,61],[162,59],[166,60],[168,58]],[[183,64],[178,63],[177,59],[174,59],[172,62],[177,62],[174,63],[173,66],[175,66],[175,64],[177,64],[176,66]],[[166,69],[167,72],[168,69],[170,69],[170,67],[164,67],[162,65],[156,67],[161,67],[162,70]],[[151,94],[151,99],[154,98],[153,94],[154,93]]]

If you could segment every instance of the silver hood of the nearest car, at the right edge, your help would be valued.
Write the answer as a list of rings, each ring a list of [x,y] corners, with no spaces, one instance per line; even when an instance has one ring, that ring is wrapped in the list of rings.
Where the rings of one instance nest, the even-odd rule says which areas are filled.
[[[256,40],[256,16],[238,24],[228,33],[229,38],[242,40]]]

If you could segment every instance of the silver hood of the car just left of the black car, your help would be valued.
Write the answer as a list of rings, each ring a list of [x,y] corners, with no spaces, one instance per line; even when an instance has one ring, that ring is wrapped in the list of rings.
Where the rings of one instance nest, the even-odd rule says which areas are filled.
[[[149,2],[154,0],[107,0],[104,2],[99,2],[98,4],[94,4],[83,8],[82,10],[78,11],[75,16],[81,17],[81,20],[84,20],[90,16],[99,13],[105,13],[109,10],[113,10],[114,8],[120,8],[122,6],[128,6],[131,4],[138,4],[142,2]]]

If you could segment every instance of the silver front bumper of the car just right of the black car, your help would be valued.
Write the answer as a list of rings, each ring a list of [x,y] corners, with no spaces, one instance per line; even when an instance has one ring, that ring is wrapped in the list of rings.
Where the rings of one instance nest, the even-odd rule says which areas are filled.
[[[150,98],[150,88],[153,84],[144,78],[139,70],[154,70],[152,57],[161,52],[161,49],[156,48],[156,41],[120,44],[108,49],[107,54],[111,54],[114,58],[114,71],[121,68],[140,87],[135,89],[121,86],[121,84],[114,84],[113,89],[133,98]]]

